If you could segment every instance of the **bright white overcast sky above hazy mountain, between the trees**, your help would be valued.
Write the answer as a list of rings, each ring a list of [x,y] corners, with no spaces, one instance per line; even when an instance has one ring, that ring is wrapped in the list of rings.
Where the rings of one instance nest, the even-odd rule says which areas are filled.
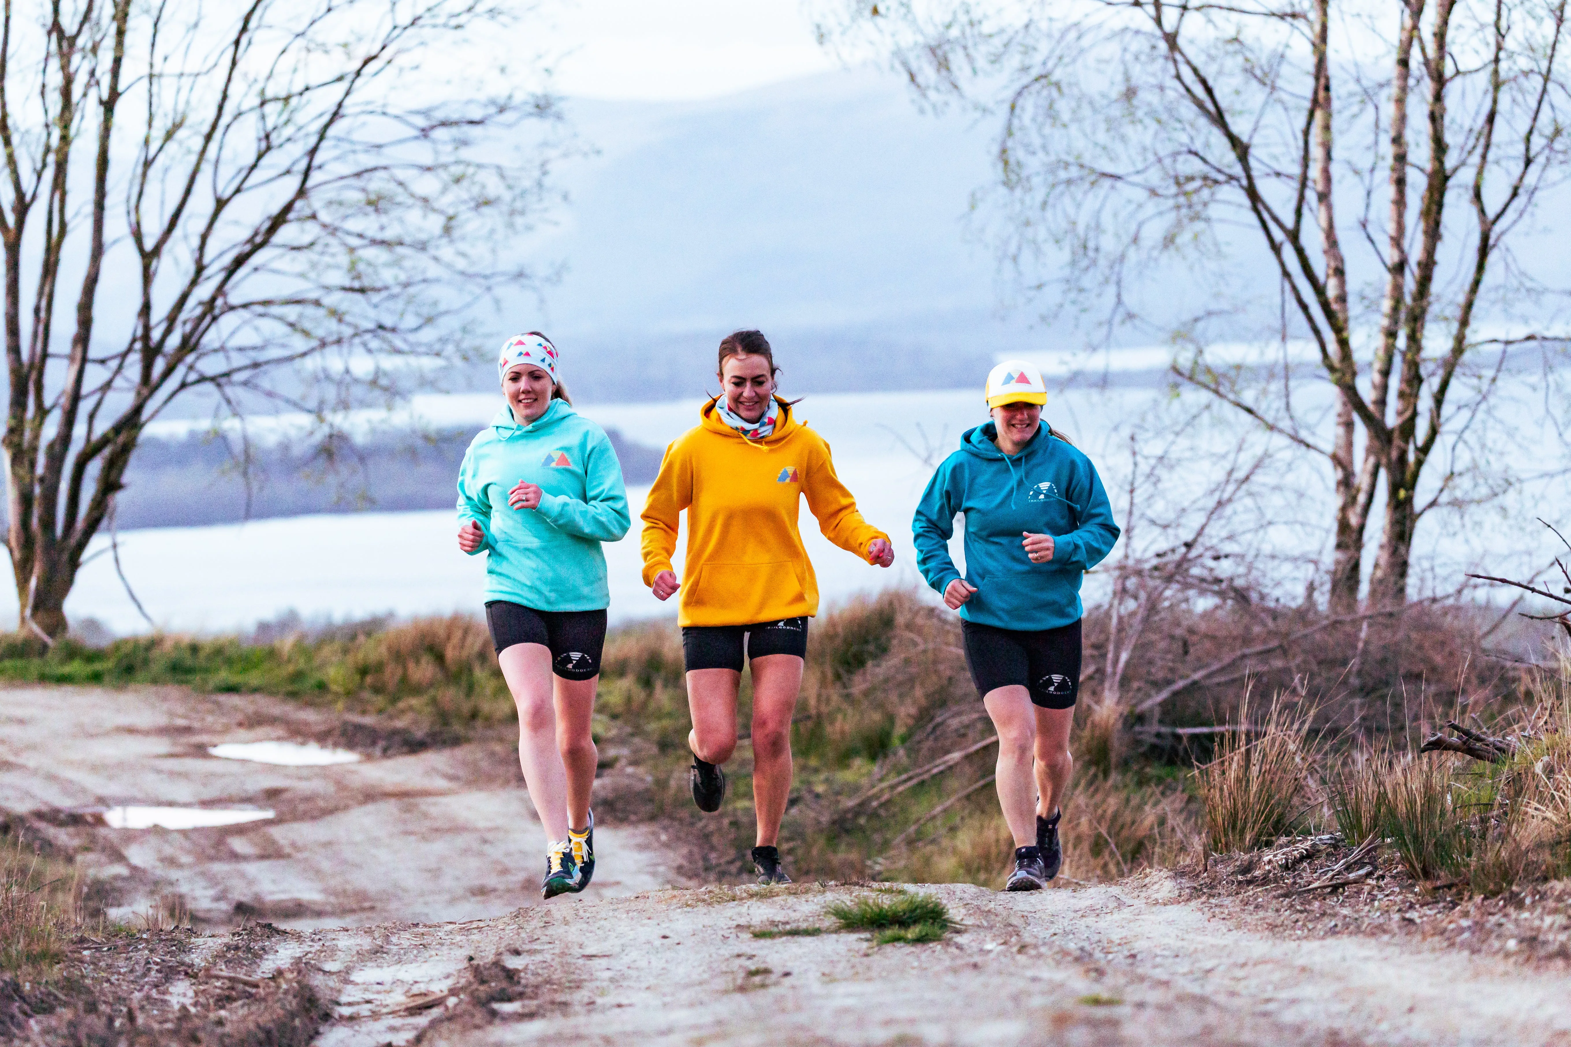
[[[559,0],[556,91],[710,99],[837,67],[801,0]]]

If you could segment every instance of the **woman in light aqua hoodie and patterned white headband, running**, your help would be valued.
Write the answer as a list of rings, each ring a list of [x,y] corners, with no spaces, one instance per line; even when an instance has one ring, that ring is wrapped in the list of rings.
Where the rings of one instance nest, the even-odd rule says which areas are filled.
[[[518,705],[518,763],[547,834],[540,895],[594,876],[597,752],[589,733],[605,645],[602,542],[632,520],[605,430],[575,413],[539,331],[501,347],[506,407],[459,469],[459,548],[485,560],[485,622]]]

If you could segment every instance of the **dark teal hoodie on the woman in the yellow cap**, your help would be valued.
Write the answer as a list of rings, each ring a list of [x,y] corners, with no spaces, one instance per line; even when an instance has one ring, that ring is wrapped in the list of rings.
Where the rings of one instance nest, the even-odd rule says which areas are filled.
[[[965,579],[977,587],[960,617],[1001,629],[1056,629],[1078,622],[1081,576],[1119,540],[1108,493],[1090,458],[1048,435],[1046,422],[1018,455],[993,443],[993,422],[966,430],[916,507],[916,565],[944,592],[960,578],[949,557],[955,513],[966,515]],[[1053,559],[1032,564],[1024,532],[1051,534]]]

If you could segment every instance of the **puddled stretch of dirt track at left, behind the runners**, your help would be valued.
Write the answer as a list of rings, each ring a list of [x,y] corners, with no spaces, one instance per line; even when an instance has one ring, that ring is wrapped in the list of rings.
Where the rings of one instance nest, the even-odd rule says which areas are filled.
[[[163,901],[196,928],[264,920],[283,928],[471,920],[539,903],[545,843],[506,733],[468,744],[397,724],[259,695],[179,688],[0,689],[0,813],[79,854],[112,920]],[[207,755],[228,741],[350,744],[361,763],[281,768]],[[379,755],[391,752],[391,755]],[[647,790],[625,755],[600,780],[591,890],[628,895],[672,882],[660,830],[605,815]],[[119,804],[261,807],[267,821],[215,829],[108,829]],[[622,804],[627,805],[625,802]],[[652,855],[627,862],[621,855]]]

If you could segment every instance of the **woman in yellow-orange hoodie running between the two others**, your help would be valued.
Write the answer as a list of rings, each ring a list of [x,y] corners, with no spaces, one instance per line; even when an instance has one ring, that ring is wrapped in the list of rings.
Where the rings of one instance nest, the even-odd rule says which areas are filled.
[[[801,546],[801,498],[823,535],[869,564],[889,567],[889,535],[856,512],[834,474],[829,444],[775,396],[775,355],[759,331],[720,344],[721,394],[699,425],[666,449],[644,504],[644,584],[669,600],[682,590],[677,623],[687,662],[693,730],[693,801],[715,812],[726,796],[720,764],[737,749],[742,664],[753,666],[753,804],[759,835],[753,863],[762,884],[789,884],[776,846],[790,794],[790,720],[801,692],[807,618],[818,584]],[[671,565],[677,521],[688,512],[679,581]]]

